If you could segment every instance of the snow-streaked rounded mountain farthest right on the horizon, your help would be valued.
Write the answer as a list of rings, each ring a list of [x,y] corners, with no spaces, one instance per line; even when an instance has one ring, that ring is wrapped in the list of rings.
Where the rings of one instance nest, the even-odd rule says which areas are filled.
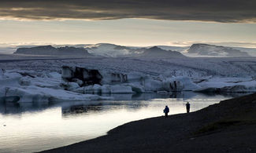
[[[213,46],[208,44],[193,44],[187,53],[195,53],[202,56],[250,56],[246,52],[242,52],[239,49],[233,49],[225,46]]]

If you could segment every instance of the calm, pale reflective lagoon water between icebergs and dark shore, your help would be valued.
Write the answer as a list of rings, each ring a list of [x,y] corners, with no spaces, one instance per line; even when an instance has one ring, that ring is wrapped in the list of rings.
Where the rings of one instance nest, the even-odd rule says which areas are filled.
[[[126,122],[184,113],[186,101],[197,111],[239,95],[115,95],[116,100],[50,104],[0,104],[0,152],[35,152],[105,135]]]

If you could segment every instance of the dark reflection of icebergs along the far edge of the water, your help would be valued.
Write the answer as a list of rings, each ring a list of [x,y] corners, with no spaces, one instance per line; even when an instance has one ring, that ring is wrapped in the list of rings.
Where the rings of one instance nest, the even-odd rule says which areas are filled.
[[[168,94],[158,93],[140,93],[140,94],[110,94],[104,96],[114,97],[116,100],[90,100],[90,101],[63,101],[63,102],[32,102],[32,103],[11,103],[0,100],[0,114],[20,114],[27,111],[44,111],[51,107],[61,107],[64,114],[87,113],[90,111],[106,111],[108,109],[139,109],[141,107],[147,107],[147,103],[143,101],[154,99],[210,99],[216,97],[238,97],[242,96],[236,93],[226,94],[212,94],[207,95],[203,93],[193,92],[173,92]],[[103,95],[102,95],[103,96]],[[77,107],[78,106],[78,107]],[[114,106],[114,107],[113,107]],[[75,108],[72,108],[75,107]],[[68,111],[65,111],[68,110]],[[70,112],[69,112],[70,110]]]

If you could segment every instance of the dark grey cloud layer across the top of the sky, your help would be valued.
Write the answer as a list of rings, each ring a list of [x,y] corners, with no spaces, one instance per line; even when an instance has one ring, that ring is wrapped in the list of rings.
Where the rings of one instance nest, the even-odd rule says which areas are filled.
[[[256,22],[255,0],[1,0],[0,18]]]

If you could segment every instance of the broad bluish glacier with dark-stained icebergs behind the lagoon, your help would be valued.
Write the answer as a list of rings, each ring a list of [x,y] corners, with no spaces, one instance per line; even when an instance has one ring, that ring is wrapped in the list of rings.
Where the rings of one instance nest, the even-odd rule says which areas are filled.
[[[113,94],[256,92],[256,58],[0,60],[0,97],[18,103],[109,100]]]

